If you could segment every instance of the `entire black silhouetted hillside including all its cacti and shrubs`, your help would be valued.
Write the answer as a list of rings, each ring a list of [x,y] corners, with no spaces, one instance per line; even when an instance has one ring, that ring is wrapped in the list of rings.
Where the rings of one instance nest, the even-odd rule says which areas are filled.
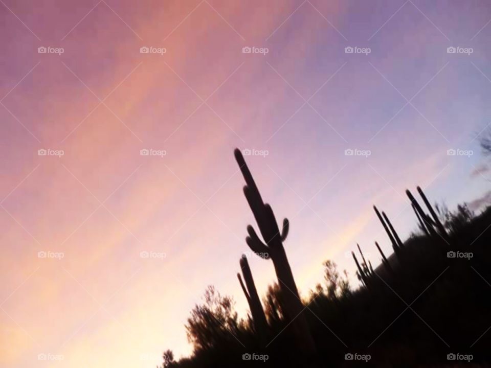
[[[371,247],[378,249],[381,264],[374,269],[358,245],[359,255],[352,253],[358,289],[350,287],[346,271],[324,261],[324,280],[301,300],[283,248],[288,221],[280,231],[240,152],[235,154],[264,240],[248,226],[247,243],[273,260],[278,283],[268,287],[261,303],[242,258],[245,285],[240,274],[239,280],[251,315],[239,319],[232,298],[209,287],[186,324],[193,356],[175,362],[167,351],[164,367],[466,365],[448,360],[448,354],[472,354],[475,366],[490,361],[491,208],[475,215],[462,204],[451,212],[431,205],[418,187],[425,211],[408,190],[419,231],[402,241],[394,223],[374,207],[394,253],[385,255],[375,242]],[[349,360],[346,354],[370,359]]]

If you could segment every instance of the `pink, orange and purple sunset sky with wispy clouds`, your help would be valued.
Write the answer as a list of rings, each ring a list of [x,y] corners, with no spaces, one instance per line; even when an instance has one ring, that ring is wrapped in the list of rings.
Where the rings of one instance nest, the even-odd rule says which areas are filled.
[[[491,199],[486,1],[0,3],[2,366],[189,355],[210,284],[245,316],[235,147],[303,296],[326,259],[356,286],[356,243],[390,254],[373,204],[407,238],[407,188]],[[250,265],[264,294],[273,265]]]

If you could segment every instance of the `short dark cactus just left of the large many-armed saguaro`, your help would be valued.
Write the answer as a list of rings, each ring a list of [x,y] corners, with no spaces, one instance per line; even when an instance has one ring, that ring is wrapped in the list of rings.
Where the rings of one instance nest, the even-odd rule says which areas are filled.
[[[237,273],[237,278],[239,279],[242,291],[245,294],[245,298],[249,304],[249,308],[252,314],[252,320],[254,323],[254,329],[256,333],[261,337],[264,336],[267,331],[266,315],[262,309],[261,301],[259,295],[257,294],[256,285],[254,284],[254,279],[252,277],[251,268],[249,267],[249,262],[247,258],[242,255],[240,258],[240,268],[242,269],[242,274],[244,276],[245,286],[240,277],[240,273]]]

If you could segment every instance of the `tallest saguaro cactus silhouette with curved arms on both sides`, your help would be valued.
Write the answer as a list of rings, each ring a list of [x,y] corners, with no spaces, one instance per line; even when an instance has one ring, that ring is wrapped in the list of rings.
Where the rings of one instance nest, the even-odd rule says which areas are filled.
[[[263,202],[242,153],[239,149],[235,149],[234,155],[245,179],[246,185],[243,188],[245,198],[254,214],[264,243],[259,239],[254,227],[251,225],[247,226],[249,236],[245,241],[252,251],[262,254],[263,259],[271,258],[273,260],[276,277],[278,278],[281,294],[284,298],[285,312],[295,330],[298,346],[305,354],[313,354],[316,351],[314,339],[310,334],[307,319],[302,313],[304,306],[300,300],[292,269],[288,263],[285,249],[283,248],[283,241],[285,241],[288,235],[288,220],[286,218],[283,220],[283,227],[280,232],[273,209],[269,204]]]

